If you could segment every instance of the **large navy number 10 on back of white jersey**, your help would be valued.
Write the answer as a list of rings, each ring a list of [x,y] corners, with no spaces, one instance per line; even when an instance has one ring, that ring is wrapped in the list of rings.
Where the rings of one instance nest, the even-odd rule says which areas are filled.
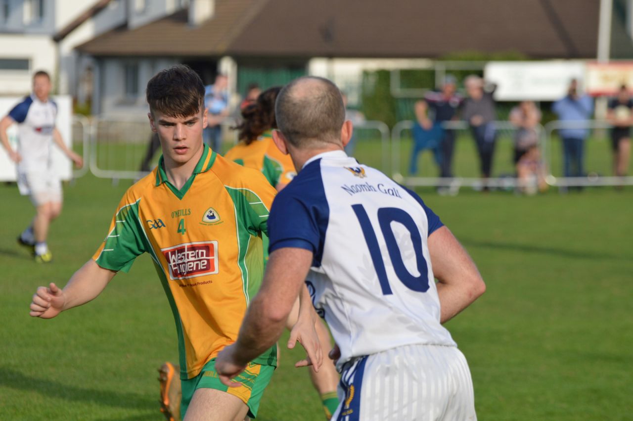
[[[387,271],[385,270],[385,262],[383,260],[382,253],[380,253],[380,246],[376,233],[373,230],[372,222],[369,220],[367,211],[362,204],[353,204],[352,208],[356,213],[356,218],[360,222],[360,227],[363,230],[363,236],[369,253],[372,256],[373,267],[378,275],[380,282],[380,288],[383,295],[393,294],[391,286],[389,285],[389,279],[387,278]],[[427,261],[422,254],[422,236],[420,236],[420,230],[411,215],[399,208],[380,208],[378,210],[378,222],[380,223],[380,231],[387,243],[387,251],[389,251],[389,258],[396,272],[398,279],[408,289],[418,292],[426,292],[429,289],[429,275]],[[404,265],[404,260],[398,247],[398,241],[391,229],[392,222],[399,222],[408,232],[411,234],[411,241],[413,242],[413,249],[415,250],[415,261],[420,272],[420,276],[413,276]]]

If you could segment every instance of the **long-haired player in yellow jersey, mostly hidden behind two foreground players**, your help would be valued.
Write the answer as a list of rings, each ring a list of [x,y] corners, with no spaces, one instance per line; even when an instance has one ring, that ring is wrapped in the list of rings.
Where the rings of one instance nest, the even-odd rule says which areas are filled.
[[[240,142],[224,155],[225,158],[244,167],[260,170],[277,191],[281,191],[296,175],[290,155],[283,154],[272,139],[272,130],[277,129],[275,101],[279,91],[281,87],[267,89],[253,104],[249,104],[242,110],[242,123],[236,127],[239,130]],[[267,259],[268,237],[264,237],[264,253]],[[292,329],[296,323],[298,310],[297,301],[286,323],[288,329]],[[317,320],[315,327],[320,337],[321,348],[330,349],[330,333],[325,324]],[[339,406],[336,395],[339,374],[336,372],[334,363],[326,358],[318,372],[310,370],[310,377],[321,396],[325,417],[329,420]]]

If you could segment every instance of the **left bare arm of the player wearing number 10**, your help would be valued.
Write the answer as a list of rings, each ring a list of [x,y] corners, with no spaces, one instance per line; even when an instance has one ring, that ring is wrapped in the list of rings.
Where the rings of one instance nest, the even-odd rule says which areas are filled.
[[[299,248],[280,248],[270,254],[260,292],[251,301],[237,341],[216,358],[215,369],[224,384],[237,386],[230,379],[241,373],[248,361],[277,342],[312,258],[311,251]],[[320,361],[310,349],[306,352],[311,361]]]

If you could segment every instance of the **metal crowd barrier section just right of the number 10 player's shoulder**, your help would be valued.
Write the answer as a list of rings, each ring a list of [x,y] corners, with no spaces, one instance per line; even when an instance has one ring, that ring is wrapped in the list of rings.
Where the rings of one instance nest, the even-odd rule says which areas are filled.
[[[513,142],[513,134],[517,130],[517,127],[508,121],[497,121],[494,122],[497,134],[498,142],[496,148],[499,148],[499,142]],[[470,126],[467,122],[464,121],[451,121],[443,123],[442,126],[444,129],[454,130],[455,134],[455,145],[461,146],[460,143],[460,132],[468,131],[468,139],[472,141],[472,135],[470,134]],[[402,162],[402,144],[401,141],[404,137],[405,130],[411,130],[413,128],[413,122],[411,120],[404,120],[402,122],[396,123],[394,128],[391,130],[391,166],[392,166],[392,178],[397,182],[403,183],[405,185],[413,186],[435,186],[435,187],[461,187],[461,186],[471,186],[471,187],[483,187],[484,181],[479,176],[471,176],[464,177],[460,175],[456,175],[452,178],[442,178],[442,177],[420,177],[415,174],[406,175],[406,171],[403,170],[403,165],[406,163]],[[547,144],[547,139],[545,136],[545,130],[542,125],[537,125],[536,130],[539,135],[539,148],[541,149],[541,159],[546,166],[546,173],[548,171],[548,151],[545,148]],[[413,141],[412,136],[409,136],[411,141]],[[495,154],[499,153],[497,150]],[[476,151],[473,149],[473,161],[479,163],[479,156],[477,156]],[[459,168],[456,163],[456,152],[453,154],[453,173],[458,173]],[[511,156],[508,156],[508,162],[511,161]],[[488,187],[524,187],[526,182],[520,182],[517,178],[514,177],[513,168],[507,168],[508,175],[505,177],[490,177],[486,179],[485,184]],[[494,165],[492,167],[492,172],[494,173],[495,168]],[[511,171],[511,175],[510,175]],[[439,172],[439,168],[437,168],[437,172]]]

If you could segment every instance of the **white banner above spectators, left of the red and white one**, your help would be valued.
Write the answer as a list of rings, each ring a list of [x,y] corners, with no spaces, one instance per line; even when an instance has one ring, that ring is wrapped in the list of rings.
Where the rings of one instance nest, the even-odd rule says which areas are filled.
[[[497,84],[498,101],[556,101],[567,94],[570,80],[582,86],[585,68],[582,61],[491,61],[484,78]]]

